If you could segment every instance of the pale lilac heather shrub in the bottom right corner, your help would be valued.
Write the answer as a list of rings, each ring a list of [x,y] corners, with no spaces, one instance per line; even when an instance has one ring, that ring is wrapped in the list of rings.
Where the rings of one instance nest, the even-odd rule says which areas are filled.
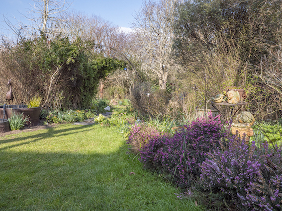
[[[281,210],[281,150],[269,149],[267,143],[256,148],[254,142],[249,148],[244,142],[232,136],[208,153],[200,165],[202,188],[241,210]]]

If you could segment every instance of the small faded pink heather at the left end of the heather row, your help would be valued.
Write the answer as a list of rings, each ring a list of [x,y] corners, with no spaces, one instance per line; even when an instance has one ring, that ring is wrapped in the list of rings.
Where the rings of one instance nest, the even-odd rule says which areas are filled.
[[[143,148],[151,139],[161,138],[161,134],[153,126],[148,126],[146,124],[135,125],[129,129],[129,135],[127,139],[127,144],[131,145],[131,151],[134,153],[139,153],[141,148]]]

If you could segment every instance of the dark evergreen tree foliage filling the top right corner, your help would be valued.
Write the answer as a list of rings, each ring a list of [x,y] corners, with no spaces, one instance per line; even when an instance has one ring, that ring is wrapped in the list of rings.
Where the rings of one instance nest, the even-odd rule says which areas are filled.
[[[183,58],[183,62],[191,61],[202,49],[216,47],[220,37],[235,41],[240,46],[241,58],[249,51],[254,55],[261,53],[264,51],[261,42],[271,43],[281,33],[281,3],[281,0],[187,0],[181,3],[175,24],[177,56]]]

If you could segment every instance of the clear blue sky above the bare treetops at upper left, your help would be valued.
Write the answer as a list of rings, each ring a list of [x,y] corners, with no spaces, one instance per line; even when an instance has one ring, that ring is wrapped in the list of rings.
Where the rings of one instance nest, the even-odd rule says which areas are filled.
[[[69,0],[70,2],[72,0]],[[27,14],[33,4],[32,0],[0,0],[0,34],[5,33],[3,15],[10,21],[13,17],[22,22],[26,18],[22,14]],[[89,15],[97,15],[119,27],[129,28],[133,22],[133,14],[142,6],[142,0],[74,0],[70,10],[84,12]]]

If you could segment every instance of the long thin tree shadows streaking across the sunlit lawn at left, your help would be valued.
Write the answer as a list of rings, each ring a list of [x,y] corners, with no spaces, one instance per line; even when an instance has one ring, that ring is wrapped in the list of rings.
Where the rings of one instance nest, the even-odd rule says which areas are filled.
[[[46,132],[46,130],[47,130],[47,132]],[[36,142],[36,141],[46,139],[46,138],[68,136],[68,135],[71,135],[71,134],[78,134],[78,133],[81,133],[81,132],[86,132],[86,131],[91,131],[91,130],[94,130],[93,125],[74,126],[72,128],[61,129],[61,130],[56,130],[56,128],[48,128],[48,129],[45,129],[45,130],[40,130],[40,131],[42,131],[42,133],[30,135],[30,136],[18,137],[18,138],[13,138],[10,135],[10,136],[8,136],[8,138],[5,138],[5,137],[2,138],[3,140],[2,141],[0,140],[0,144],[9,143],[9,142],[20,142],[20,141],[25,141],[25,140],[29,140],[29,139],[34,139],[34,140],[20,142],[18,144],[9,145],[9,146],[6,146],[6,147],[0,147],[0,150],[5,150],[5,149],[16,147],[16,146],[19,146],[19,145]]]

